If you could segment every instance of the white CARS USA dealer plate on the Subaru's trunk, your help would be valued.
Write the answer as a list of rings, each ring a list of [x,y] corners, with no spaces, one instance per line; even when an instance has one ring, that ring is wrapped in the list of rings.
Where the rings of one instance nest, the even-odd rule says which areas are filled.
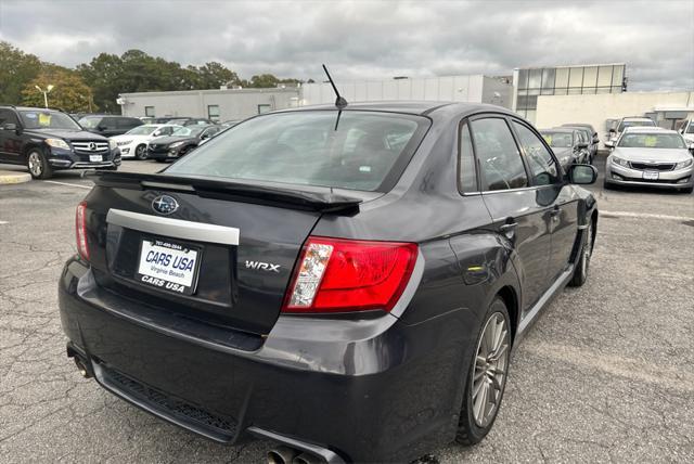
[[[168,292],[192,295],[197,283],[200,249],[162,240],[143,240],[137,279]]]

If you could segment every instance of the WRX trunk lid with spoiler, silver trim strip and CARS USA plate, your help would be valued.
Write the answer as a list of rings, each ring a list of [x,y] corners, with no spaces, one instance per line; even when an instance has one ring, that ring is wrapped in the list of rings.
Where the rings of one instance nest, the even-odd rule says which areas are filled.
[[[100,172],[94,181],[87,235],[99,285],[162,311],[259,335],[274,325],[301,245],[321,215],[354,212],[378,196],[165,175]],[[178,207],[154,205],[170,199]]]

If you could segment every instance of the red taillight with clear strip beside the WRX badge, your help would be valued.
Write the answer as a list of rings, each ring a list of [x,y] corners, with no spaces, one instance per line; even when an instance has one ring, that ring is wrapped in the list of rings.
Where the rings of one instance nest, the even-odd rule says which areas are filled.
[[[282,312],[390,311],[404,291],[417,246],[311,236]]]

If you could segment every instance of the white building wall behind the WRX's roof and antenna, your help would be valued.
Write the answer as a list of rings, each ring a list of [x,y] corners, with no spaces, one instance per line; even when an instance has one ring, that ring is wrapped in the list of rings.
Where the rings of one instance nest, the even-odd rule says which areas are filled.
[[[339,93],[348,102],[393,100],[453,101],[511,105],[512,86],[483,75],[408,79],[363,79],[337,81]],[[494,98],[494,92],[504,95]],[[329,82],[301,86],[301,105],[333,103],[335,93]]]

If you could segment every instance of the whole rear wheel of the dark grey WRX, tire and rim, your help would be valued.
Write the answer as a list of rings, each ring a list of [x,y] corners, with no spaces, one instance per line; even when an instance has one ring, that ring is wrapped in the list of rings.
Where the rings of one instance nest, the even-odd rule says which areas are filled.
[[[500,335],[499,341],[492,343],[492,349],[488,349],[485,335],[490,336],[494,333]],[[475,338],[475,345],[470,351],[471,366],[465,381],[463,404],[455,434],[457,442],[465,446],[478,443],[491,430],[506,386],[510,353],[509,310],[503,299],[497,297],[487,309],[484,323]],[[480,357],[486,360],[485,364],[477,361]],[[491,359],[496,360],[489,362]],[[475,390],[476,395],[474,395]],[[485,400],[489,398],[488,395],[494,397],[494,403],[491,405]]]

